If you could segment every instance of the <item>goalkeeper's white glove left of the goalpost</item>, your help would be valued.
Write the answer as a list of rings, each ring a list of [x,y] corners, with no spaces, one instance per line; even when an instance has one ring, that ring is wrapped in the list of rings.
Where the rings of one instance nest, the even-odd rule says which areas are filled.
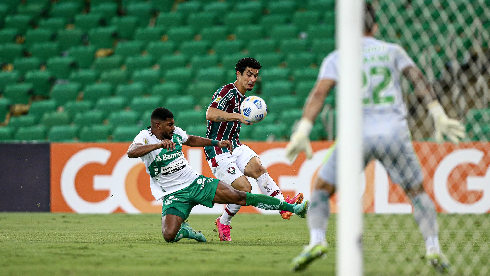
[[[293,163],[301,151],[305,152],[308,159],[313,158],[313,149],[310,144],[310,132],[312,128],[313,123],[310,120],[306,118],[299,120],[296,130],[291,135],[291,139],[286,146],[286,158],[289,162]]]

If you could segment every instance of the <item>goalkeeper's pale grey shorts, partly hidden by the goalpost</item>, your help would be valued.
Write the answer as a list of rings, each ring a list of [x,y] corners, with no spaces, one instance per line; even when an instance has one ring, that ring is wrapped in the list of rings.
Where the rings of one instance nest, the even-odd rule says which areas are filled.
[[[422,183],[422,169],[408,129],[396,131],[395,134],[365,136],[363,146],[364,166],[372,159],[379,160],[392,181],[405,190]],[[337,151],[335,147],[328,152],[330,156],[327,156],[319,171],[319,177],[333,185],[337,183]]]

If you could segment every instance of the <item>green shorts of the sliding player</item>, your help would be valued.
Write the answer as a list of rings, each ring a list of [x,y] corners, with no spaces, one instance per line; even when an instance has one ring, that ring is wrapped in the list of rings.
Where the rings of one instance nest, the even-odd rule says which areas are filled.
[[[188,187],[163,197],[162,217],[176,215],[184,219],[189,217],[192,207],[201,204],[213,208],[213,200],[220,180],[199,176]]]

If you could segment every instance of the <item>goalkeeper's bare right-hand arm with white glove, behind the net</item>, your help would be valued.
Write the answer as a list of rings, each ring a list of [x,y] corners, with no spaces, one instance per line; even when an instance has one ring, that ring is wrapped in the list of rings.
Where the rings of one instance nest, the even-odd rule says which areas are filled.
[[[427,107],[429,113],[434,118],[436,141],[440,143],[444,141],[443,135],[455,143],[459,142],[460,139],[465,138],[465,127],[458,120],[451,119],[447,116],[437,100],[432,85],[422,71],[416,66],[408,66],[404,68],[402,72],[407,80],[414,86],[417,97],[422,99],[423,105]]]

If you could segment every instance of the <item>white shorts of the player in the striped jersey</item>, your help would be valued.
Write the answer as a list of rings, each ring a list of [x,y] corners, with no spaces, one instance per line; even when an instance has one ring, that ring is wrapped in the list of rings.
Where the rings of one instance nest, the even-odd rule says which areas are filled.
[[[247,145],[241,145],[233,149],[233,154],[224,152],[215,156],[218,166],[213,167],[211,160],[208,164],[217,179],[231,184],[244,175],[245,166],[254,156],[258,157],[255,151]]]

